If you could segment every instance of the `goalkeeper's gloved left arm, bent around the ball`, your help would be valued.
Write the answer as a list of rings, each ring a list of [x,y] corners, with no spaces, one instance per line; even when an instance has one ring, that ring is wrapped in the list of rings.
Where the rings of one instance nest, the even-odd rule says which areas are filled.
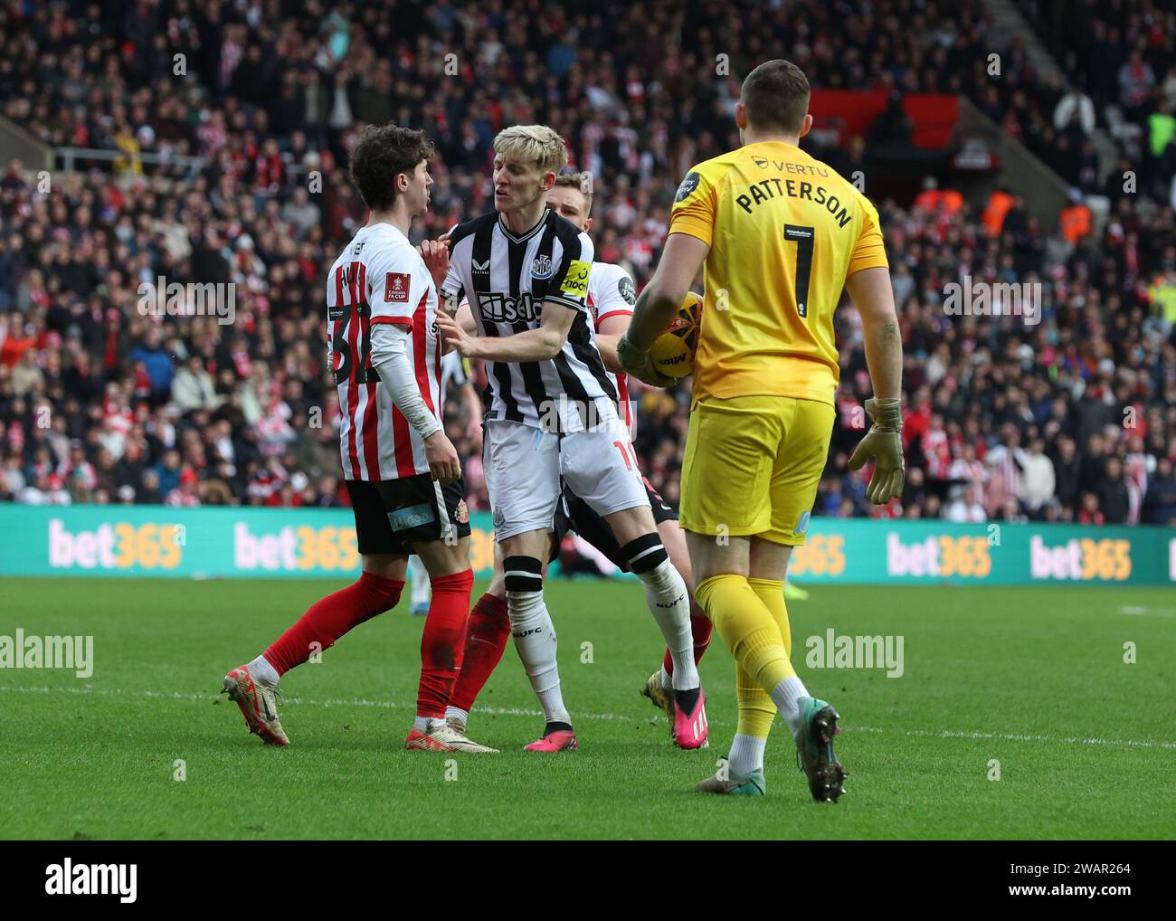
[[[709,243],[690,234],[671,233],[666,240],[657,269],[633,308],[633,322],[616,343],[617,362],[637,380],[655,387],[676,382],[654,368],[649,347],[669,327],[709,252]]]

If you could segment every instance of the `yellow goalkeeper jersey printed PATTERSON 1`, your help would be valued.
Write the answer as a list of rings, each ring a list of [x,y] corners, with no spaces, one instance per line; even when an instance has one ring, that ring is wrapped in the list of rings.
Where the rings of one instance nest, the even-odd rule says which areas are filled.
[[[869,200],[800,147],[762,141],[690,169],[669,232],[710,245],[694,400],[833,403],[833,313],[846,279],[889,267]]]

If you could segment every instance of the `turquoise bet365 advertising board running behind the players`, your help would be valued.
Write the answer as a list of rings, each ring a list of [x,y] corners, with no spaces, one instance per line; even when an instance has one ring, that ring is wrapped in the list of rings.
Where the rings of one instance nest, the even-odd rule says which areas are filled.
[[[490,515],[474,513],[470,526],[474,569],[489,575]],[[358,572],[349,509],[0,505],[0,575],[343,579]],[[1171,585],[1176,530],[816,518],[789,573],[803,583]]]

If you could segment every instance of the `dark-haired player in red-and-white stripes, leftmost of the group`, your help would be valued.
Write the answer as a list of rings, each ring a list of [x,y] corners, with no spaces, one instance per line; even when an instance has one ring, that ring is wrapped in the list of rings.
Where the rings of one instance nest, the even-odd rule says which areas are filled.
[[[225,676],[223,693],[267,745],[289,743],[278,719],[279,679],[394,607],[408,554],[416,553],[429,572],[433,600],[421,640],[416,720],[406,747],[494,750],[445,721],[461,669],[474,573],[461,467],[440,419],[436,285],[407,236],[413,216],[428,207],[432,156],[422,132],[390,124],[368,127],[352,149],[352,179],[370,216],[327,276],[327,335],[362,573]]]

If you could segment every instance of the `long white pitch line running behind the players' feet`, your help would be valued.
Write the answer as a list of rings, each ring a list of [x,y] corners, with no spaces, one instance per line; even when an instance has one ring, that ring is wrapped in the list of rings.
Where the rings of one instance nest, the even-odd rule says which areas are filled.
[[[101,696],[121,696],[131,698],[136,696],[134,693],[122,690],[121,688],[49,688],[49,687],[29,687],[29,686],[15,686],[15,685],[0,685],[0,690],[13,690],[19,694],[54,694],[54,693],[66,693],[66,694],[95,694]],[[145,698],[159,698],[159,699],[172,699],[172,700],[215,700],[213,694],[181,694],[175,690],[171,694],[166,694],[159,690],[143,690],[140,692]],[[385,709],[397,709],[397,710],[410,710],[415,709],[415,703],[403,703],[394,700],[366,700],[363,698],[352,698],[347,700],[345,698],[328,698],[326,700],[312,700],[309,698],[286,698],[287,703],[302,703],[312,707],[382,707]],[[542,716],[541,710],[524,709],[522,707],[479,707],[475,713],[488,713],[497,716]],[[576,719],[583,718],[586,720],[616,720],[620,722],[635,722],[633,716],[626,716],[620,713],[577,713]],[[715,725],[717,721],[711,720]],[[717,725],[722,725],[719,722]],[[1030,735],[1025,733],[981,733],[981,732],[960,732],[955,729],[941,729],[938,732],[933,732],[930,729],[903,729],[901,732],[895,732],[893,729],[882,729],[877,726],[843,726],[842,732],[847,733],[876,733],[880,735],[909,735],[918,736],[924,739],[1003,739],[1010,742],[1065,742],[1068,745],[1094,745],[1094,746],[1130,746],[1132,748],[1172,748],[1176,749],[1176,742],[1148,742],[1138,741],[1135,739],[1078,739],[1077,736],[1070,736],[1065,739],[1057,739],[1049,735]]]

